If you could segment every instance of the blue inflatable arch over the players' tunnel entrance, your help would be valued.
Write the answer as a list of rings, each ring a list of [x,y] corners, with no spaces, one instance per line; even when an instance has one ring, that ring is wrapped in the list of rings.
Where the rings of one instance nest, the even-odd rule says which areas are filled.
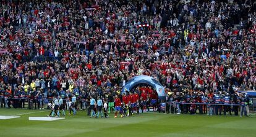
[[[136,76],[126,82],[126,85],[122,88],[122,93],[130,92],[132,88],[137,87],[139,84],[148,84],[153,87],[158,94],[158,100],[164,101],[165,100],[165,92],[163,85],[160,84],[156,79],[150,76]]]

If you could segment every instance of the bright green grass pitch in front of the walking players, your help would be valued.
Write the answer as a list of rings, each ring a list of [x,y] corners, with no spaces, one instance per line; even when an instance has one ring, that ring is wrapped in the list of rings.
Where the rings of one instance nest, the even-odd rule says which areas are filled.
[[[33,113],[35,112],[35,113]],[[26,114],[24,114],[26,113]],[[58,121],[29,121],[43,117],[46,110],[0,109],[0,115],[21,118],[0,120],[0,136],[256,136],[256,117],[176,115],[147,113],[133,117],[90,119],[86,112],[67,115]]]

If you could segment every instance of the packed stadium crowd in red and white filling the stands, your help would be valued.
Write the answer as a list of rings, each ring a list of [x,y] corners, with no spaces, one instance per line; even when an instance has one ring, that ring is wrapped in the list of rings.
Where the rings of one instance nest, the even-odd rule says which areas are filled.
[[[41,109],[45,98],[75,96],[84,109],[99,96],[111,108],[122,86],[142,74],[176,102],[218,104],[228,96],[227,103],[247,105],[237,90],[256,88],[251,0],[6,0],[0,29],[1,107],[24,108],[28,98],[29,108]],[[134,91],[132,101],[143,91],[143,100],[157,99]]]

